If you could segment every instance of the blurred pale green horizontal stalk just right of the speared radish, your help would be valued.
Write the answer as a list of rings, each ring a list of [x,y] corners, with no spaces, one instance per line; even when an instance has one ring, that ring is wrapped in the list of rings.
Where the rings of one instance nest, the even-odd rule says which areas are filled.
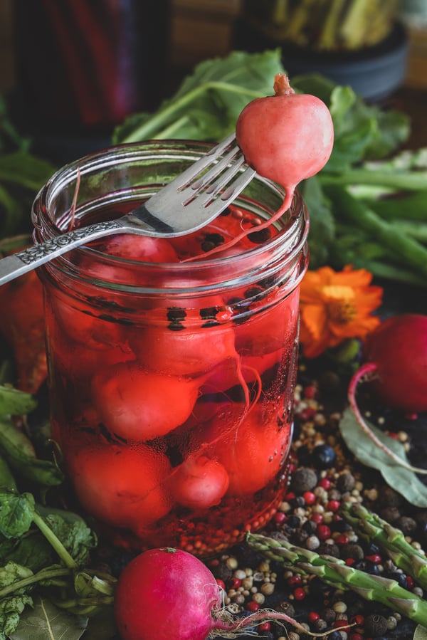
[[[354,167],[342,173],[321,171],[318,174],[321,184],[347,187],[350,184],[374,184],[376,187],[391,187],[404,191],[427,190],[426,172],[419,171],[381,171]]]

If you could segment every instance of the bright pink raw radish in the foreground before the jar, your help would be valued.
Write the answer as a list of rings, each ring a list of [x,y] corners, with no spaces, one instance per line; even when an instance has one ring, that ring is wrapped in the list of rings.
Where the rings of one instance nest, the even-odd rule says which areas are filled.
[[[238,634],[268,620],[288,622],[307,633],[275,611],[233,619],[221,609],[221,592],[209,568],[170,547],[145,551],[125,567],[115,592],[115,620],[122,640],[206,640],[215,632]]]

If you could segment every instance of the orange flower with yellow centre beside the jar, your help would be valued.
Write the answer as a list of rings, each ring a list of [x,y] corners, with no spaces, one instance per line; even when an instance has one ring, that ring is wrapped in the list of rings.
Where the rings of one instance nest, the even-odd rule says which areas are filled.
[[[347,338],[363,338],[379,325],[371,312],[381,305],[383,290],[371,286],[372,274],[351,265],[342,271],[325,266],[307,271],[301,283],[300,342],[314,358]]]

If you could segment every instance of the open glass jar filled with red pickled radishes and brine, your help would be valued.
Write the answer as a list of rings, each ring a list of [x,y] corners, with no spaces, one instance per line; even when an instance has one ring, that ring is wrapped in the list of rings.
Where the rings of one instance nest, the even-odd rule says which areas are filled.
[[[35,241],[124,214],[209,148],[147,142],[69,164],[34,203]],[[256,233],[282,199],[255,177],[201,231],[110,236],[39,270],[52,437],[80,508],[115,545],[204,556],[283,499],[307,268],[300,194]]]

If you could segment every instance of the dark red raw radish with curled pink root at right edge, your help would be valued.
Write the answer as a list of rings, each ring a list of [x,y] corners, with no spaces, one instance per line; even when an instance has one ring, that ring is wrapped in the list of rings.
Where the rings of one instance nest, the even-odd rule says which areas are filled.
[[[362,360],[364,364],[353,375],[348,389],[349,404],[358,424],[399,465],[427,473],[427,469],[406,463],[376,438],[356,400],[357,385],[364,381],[390,409],[411,415],[427,411],[427,315],[404,313],[381,322],[365,340]]]

